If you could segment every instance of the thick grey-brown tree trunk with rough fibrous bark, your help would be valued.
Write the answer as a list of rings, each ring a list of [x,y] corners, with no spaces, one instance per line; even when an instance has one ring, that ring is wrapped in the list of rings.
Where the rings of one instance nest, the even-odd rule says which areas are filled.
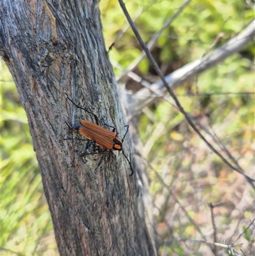
[[[68,125],[94,117],[117,127],[124,114],[97,1],[1,0],[0,54],[29,121],[61,255],[156,255],[130,136],[122,153],[81,157],[86,142]],[[66,94],[65,94],[66,93]]]

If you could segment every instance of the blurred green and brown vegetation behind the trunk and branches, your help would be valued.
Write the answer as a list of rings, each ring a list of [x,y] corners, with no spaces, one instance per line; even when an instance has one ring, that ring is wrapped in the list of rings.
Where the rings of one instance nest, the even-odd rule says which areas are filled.
[[[219,47],[254,19],[249,1],[190,1],[157,38],[152,54],[165,75]],[[251,2],[251,4],[254,2]],[[173,16],[182,1],[129,0],[126,7],[143,40],[149,41]],[[116,0],[101,1],[106,49],[122,68],[140,54]],[[214,46],[215,38],[221,40]],[[117,66],[117,65],[115,65]],[[1,255],[58,255],[50,212],[33,151],[27,117],[8,68],[1,61]],[[157,80],[147,59],[135,73]],[[115,74],[121,75],[115,68]],[[138,91],[140,84],[121,82]],[[212,129],[254,177],[254,42],[175,89],[180,103]],[[213,240],[214,208],[217,241],[231,244],[254,218],[254,192],[244,177],[231,171],[189,128],[178,110],[163,100],[142,110],[139,121],[143,156],[159,229],[160,255],[228,255],[187,238]],[[246,255],[255,255],[254,223],[238,240]],[[238,248],[237,248],[238,249]],[[213,254],[215,253],[215,254]],[[224,254],[225,253],[225,254]]]

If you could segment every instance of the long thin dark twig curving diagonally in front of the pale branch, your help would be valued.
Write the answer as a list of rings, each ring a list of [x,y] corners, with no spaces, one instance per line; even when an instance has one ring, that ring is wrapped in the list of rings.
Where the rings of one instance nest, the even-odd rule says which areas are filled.
[[[159,77],[161,78],[161,80],[163,81],[164,86],[166,87],[168,93],[171,95],[171,97],[173,98],[173,100],[175,101],[178,109],[180,110],[180,112],[185,116],[187,123],[189,123],[189,125],[193,128],[194,132],[196,132],[198,134],[198,136],[207,144],[207,146],[215,153],[217,154],[217,156],[219,156],[219,158],[221,158],[222,162],[224,162],[226,165],[228,165],[228,167],[230,167],[233,170],[236,170],[237,172],[239,172],[240,174],[242,174],[243,176],[245,176],[247,182],[249,184],[251,184],[252,188],[254,188],[255,190],[255,185],[253,182],[255,182],[254,179],[252,179],[251,177],[247,176],[247,174],[245,174],[244,170],[235,167],[233,165],[231,165],[230,162],[228,162],[228,160],[226,160],[226,158],[224,158],[224,156],[221,155],[221,153],[219,153],[213,146],[212,144],[210,144],[210,142],[207,141],[207,139],[205,139],[205,137],[201,134],[200,130],[198,130],[198,128],[196,128],[196,125],[193,123],[193,121],[191,120],[191,118],[189,117],[189,115],[186,113],[186,111],[183,109],[182,105],[180,104],[179,100],[177,99],[177,97],[175,96],[175,93],[173,93],[173,90],[171,89],[171,87],[168,85],[168,83],[166,82],[166,79],[164,78],[163,73],[161,73],[161,70],[159,69],[159,66],[157,65],[156,61],[154,60],[154,58],[152,57],[152,54],[150,54],[150,51],[148,50],[147,46],[145,45],[145,43],[142,40],[142,37],[140,36],[140,33],[138,32],[138,30],[135,27],[135,24],[133,23],[133,21],[131,20],[131,17],[128,13],[128,10],[126,9],[125,4],[123,3],[122,0],[119,0],[120,6],[124,12],[124,15],[126,16],[126,18],[128,19],[128,22],[130,24],[130,26],[133,29],[133,32],[137,38],[137,40],[139,41],[140,45],[142,46],[143,50],[145,51],[147,57],[150,60],[150,63],[152,63],[152,66],[154,68],[154,70],[156,71],[157,75],[159,75]]]

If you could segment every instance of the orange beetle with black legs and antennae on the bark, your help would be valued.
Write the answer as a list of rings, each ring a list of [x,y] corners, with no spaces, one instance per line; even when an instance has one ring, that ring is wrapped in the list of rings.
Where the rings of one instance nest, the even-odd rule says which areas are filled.
[[[128,125],[124,126],[124,127],[127,127],[127,130],[126,130],[126,133],[124,134],[122,140],[120,140],[119,137],[117,137],[117,134],[115,133],[116,128],[114,126],[105,124],[105,125],[109,126],[110,128],[113,128],[112,131],[99,126],[98,116],[96,116],[96,114],[90,112],[89,110],[85,109],[84,107],[80,107],[79,105],[77,105],[75,102],[73,102],[73,100],[71,100],[68,97],[68,94],[66,94],[66,96],[67,96],[68,100],[71,103],[73,103],[73,105],[75,105],[75,107],[77,107],[78,109],[82,109],[85,112],[88,112],[89,114],[92,114],[96,120],[96,124],[91,123],[89,121],[82,120],[82,121],[80,121],[79,124],[73,124],[73,130],[77,130],[82,135],[84,135],[87,139],[93,140],[94,142],[96,142],[96,144],[98,144],[101,147],[104,147],[105,149],[108,149],[108,150],[113,149],[113,150],[117,150],[117,151],[122,151],[122,154],[128,161],[130,169],[131,169],[131,174],[129,176],[132,176],[134,173],[133,167],[122,148],[122,142],[124,141],[124,139],[128,133],[129,126]],[[69,140],[69,139],[62,139],[62,140]]]

